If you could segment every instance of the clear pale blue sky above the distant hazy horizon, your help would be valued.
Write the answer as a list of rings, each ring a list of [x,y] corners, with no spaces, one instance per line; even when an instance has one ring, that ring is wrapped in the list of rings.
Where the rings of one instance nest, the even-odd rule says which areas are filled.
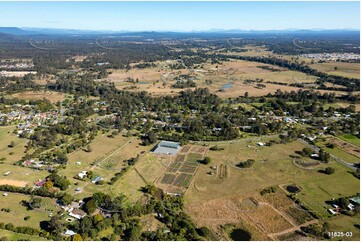
[[[0,26],[114,31],[360,29],[360,2],[0,2]]]

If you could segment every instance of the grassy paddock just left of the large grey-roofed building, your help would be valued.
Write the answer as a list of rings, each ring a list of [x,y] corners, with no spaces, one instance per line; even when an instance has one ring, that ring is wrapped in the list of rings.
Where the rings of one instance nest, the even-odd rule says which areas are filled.
[[[95,176],[101,176],[105,182],[108,182],[115,173],[128,166],[127,163],[124,162],[125,160],[135,158],[137,154],[149,151],[150,147],[141,146],[139,139],[134,139],[132,137],[127,138],[121,135],[117,135],[115,138],[109,138],[107,137],[107,134],[98,135],[92,142],[91,147],[93,150],[90,153],[83,150],[78,150],[70,154],[69,169],[67,168],[60,172],[60,174],[69,178],[72,183],[72,189],[75,189],[76,187],[83,188],[80,193],[74,194],[75,197],[83,198],[85,196],[91,195],[94,192],[105,192],[110,193],[111,195],[124,192],[130,196],[130,199],[135,196],[136,198],[134,200],[137,200],[140,194],[140,192],[138,193],[137,190],[141,186],[144,186],[144,182],[142,180],[140,180],[138,183],[130,182],[130,180],[137,180],[139,178],[139,175],[134,171],[134,169],[130,169],[119,181],[117,181],[112,186],[107,184],[96,185],[93,184],[90,180],[81,181],[75,179],[74,176],[77,176],[77,174],[81,171],[91,170]],[[94,154],[97,154],[98,156],[95,156]],[[80,162],[80,164],[77,162]],[[142,156],[136,165],[138,163],[148,164],[149,162],[147,161],[147,158],[143,158]],[[139,169],[143,171],[143,169]],[[130,173],[130,175],[128,173]],[[124,177],[127,178],[124,180]],[[123,188],[126,186],[123,186],[122,181],[130,182],[132,186],[128,186],[127,191],[124,191]]]

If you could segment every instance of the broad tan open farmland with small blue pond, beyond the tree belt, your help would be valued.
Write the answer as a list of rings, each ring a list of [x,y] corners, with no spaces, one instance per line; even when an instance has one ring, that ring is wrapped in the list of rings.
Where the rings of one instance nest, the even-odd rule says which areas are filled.
[[[167,69],[165,68],[166,64],[157,63],[157,67],[140,70],[132,69],[128,72],[115,71],[110,75],[110,80],[115,83],[118,89],[147,91],[155,96],[163,96],[175,95],[184,90],[172,88],[171,85],[176,82],[177,77],[187,74],[194,79],[197,87],[208,88],[212,93],[216,93],[221,98],[243,96],[245,92],[248,92],[250,96],[265,96],[268,93],[275,93],[278,89],[282,91],[305,89],[280,85],[279,83],[307,83],[310,87],[317,86],[314,84],[317,79],[315,76],[258,62],[232,60],[222,64],[201,64],[201,67],[197,69],[179,70]],[[138,82],[129,82],[127,81],[128,78],[138,79]],[[259,83],[249,83],[246,81],[261,79],[263,80],[261,83],[265,85],[263,87],[257,86]],[[206,80],[211,81],[211,83],[206,82]],[[318,91],[321,93],[335,92],[338,95],[344,94],[344,92],[333,90]]]

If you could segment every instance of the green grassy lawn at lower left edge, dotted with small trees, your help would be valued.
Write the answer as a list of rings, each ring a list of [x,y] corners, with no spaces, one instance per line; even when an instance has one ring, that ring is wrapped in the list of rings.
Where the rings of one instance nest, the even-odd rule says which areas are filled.
[[[29,201],[30,196],[17,193],[8,193],[8,196],[3,196],[1,192],[0,196],[0,209],[9,208],[10,212],[0,211],[1,223],[12,223],[14,226],[28,226],[36,229],[40,229],[41,221],[50,220],[49,214],[56,214],[60,210],[55,205],[55,199],[41,198],[42,207],[38,210],[28,210],[28,208],[21,204],[22,200]],[[50,210],[50,211],[46,211]],[[52,210],[52,211],[51,211]],[[30,219],[25,221],[24,218],[30,216]]]

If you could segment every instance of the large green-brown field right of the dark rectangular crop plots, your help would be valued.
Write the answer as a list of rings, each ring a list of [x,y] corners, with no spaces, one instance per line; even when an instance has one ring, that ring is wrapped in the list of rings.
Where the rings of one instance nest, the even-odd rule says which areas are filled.
[[[314,222],[314,218],[302,212],[302,209],[295,208],[292,200],[282,192],[284,184],[297,184],[301,188],[297,195],[301,203],[324,218],[329,217],[325,203],[327,200],[354,195],[360,188],[359,181],[349,173],[350,170],[336,161],[327,164],[336,169],[332,176],[318,172],[325,165],[306,169],[294,164],[289,156],[304,147],[297,141],[271,147],[259,147],[256,142],[241,140],[210,144],[218,144],[224,150],[209,151],[211,164],[209,167],[199,167],[193,185],[185,195],[186,209],[199,226],[208,225],[218,231],[217,224],[247,221],[250,226],[257,228],[256,234],[279,238],[297,230],[300,224]],[[251,168],[240,169],[235,166],[237,161],[247,159],[255,159]],[[217,170],[227,167],[229,174],[222,178],[219,172],[209,175],[207,172],[212,170],[210,167],[217,167]],[[277,195],[261,196],[259,191],[269,186],[276,186],[280,191]],[[348,190],[342,187],[348,187]],[[252,212],[248,212],[250,210]]]

